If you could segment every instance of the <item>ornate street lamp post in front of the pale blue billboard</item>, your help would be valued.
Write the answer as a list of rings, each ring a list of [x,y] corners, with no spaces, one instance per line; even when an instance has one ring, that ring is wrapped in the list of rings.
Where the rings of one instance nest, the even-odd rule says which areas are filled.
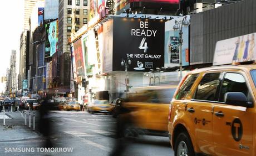
[[[181,24],[181,25],[180,25]],[[175,20],[175,24],[173,26],[174,30],[179,30],[179,63],[180,63],[180,77],[182,79],[182,43],[183,43],[183,38],[182,38],[182,29],[183,29],[183,25],[185,27],[188,27],[189,22],[188,20],[186,20],[186,16],[182,19],[182,21],[177,21]]]

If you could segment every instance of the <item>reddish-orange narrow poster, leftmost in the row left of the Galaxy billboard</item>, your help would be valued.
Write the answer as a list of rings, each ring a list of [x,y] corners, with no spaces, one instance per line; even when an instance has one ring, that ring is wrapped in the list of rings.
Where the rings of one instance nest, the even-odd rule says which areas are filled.
[[[85,75],[81,39],[78,39],[73,43],[73,48],[74,48],[74,54],[75,54],[77,76]]]

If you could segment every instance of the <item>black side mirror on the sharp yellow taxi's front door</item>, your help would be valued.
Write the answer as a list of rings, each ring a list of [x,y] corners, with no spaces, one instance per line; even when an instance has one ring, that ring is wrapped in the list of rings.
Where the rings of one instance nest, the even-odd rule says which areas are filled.
[[[251,108],[253,107],[252,102],[248,102],[247,97],[243,92],[227,92],[224,96],[224,102],[227,105],[242,106]]]

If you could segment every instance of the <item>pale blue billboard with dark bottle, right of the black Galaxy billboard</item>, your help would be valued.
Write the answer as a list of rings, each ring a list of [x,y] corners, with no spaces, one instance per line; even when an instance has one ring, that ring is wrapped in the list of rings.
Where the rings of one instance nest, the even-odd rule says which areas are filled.
[[[179,66],[179,30],[174,30],[175,20],[179,23],[182,22],[184,17],[173,17],[174,19],[165,22],[165,40],[164,40],[164,66],[174,67]],[[190,16],[186,17],[186,20],[190,20]],[[180,24],[181,27],[181,24]],[[183,25],[182,29],[183,44],[182,44],[182,65],[189,65],[189,27]]]

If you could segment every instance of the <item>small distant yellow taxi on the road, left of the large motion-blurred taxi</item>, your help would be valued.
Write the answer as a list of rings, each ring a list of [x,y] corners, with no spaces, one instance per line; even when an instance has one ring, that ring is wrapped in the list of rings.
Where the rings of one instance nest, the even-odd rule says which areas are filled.
[[[93,102],[88,103],[87,109],[89,113],[111,113],[112,111],[112,107],[108,100],[94,100]]]

